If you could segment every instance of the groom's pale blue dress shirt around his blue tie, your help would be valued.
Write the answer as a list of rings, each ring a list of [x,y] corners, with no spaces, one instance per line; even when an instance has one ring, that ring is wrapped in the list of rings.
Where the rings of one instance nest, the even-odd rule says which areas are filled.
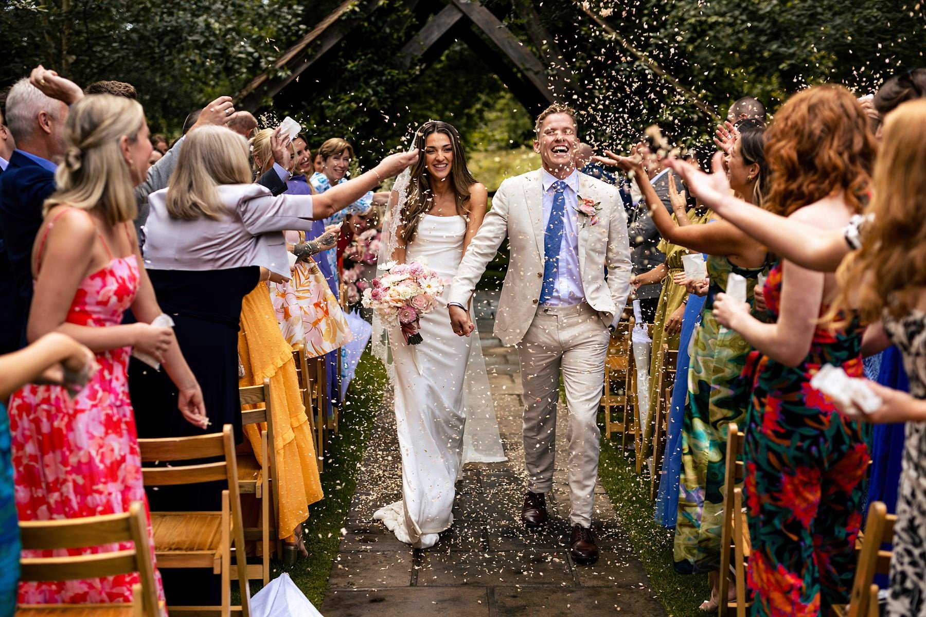
[[[558,178],[546,169],[541,170],[541,184],[544,195],[544,233],[550,222],[550,212],[553,210],[553,183]],[[566,208],[563,211],[563,239],[559,245],[559,268],[557,270],[557,284],[553,295],[544,302],[544,306],[570,306],[585,302],[585,291],[582,289],[582,273],[579,271],[579,213],[576,204],[579,203],[579,172],[573,170],[563,179],[566,182]]]

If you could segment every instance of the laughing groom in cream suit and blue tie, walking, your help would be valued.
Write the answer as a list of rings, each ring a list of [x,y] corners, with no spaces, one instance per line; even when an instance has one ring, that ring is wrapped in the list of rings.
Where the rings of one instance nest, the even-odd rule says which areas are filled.
[[[450,288],[450,321],[457,335],[469,336],[469,299],[507,236],[511,259],[495,336],[517,345],[520,358],[528,477],[521,520],[528,526],[546,523],[561,371],[569,408],[569,550],[573,561],[594,563],[598,547],[591,525],[601,438],[596,419],[607,342],[631,289],[627,220],[618,190],[576,169],[579,139],[572,109],[550,105],[535,129],[533,149],[543,168],[506,179],[498,188]]]

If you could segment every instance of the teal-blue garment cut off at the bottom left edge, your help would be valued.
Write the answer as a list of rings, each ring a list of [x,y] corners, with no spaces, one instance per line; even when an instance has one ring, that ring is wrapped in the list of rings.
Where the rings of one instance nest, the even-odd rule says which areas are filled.
[[[0,402],[0,617],[12,617],[19,584],[19,524],[13,496],[9,417]]]

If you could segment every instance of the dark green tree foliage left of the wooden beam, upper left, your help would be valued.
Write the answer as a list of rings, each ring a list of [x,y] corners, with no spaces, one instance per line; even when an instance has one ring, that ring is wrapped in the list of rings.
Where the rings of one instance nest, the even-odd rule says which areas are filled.
[[[180,131],[183,118],[234,94],[307,26],[295,0],[47,0],[0,8],[0,83],[39,63],[87,85],[130,82],[151,128]]]

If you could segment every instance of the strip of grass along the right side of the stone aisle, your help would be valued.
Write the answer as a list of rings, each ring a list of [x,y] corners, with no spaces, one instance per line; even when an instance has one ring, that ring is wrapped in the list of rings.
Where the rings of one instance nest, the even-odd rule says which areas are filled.
[[[710,597],[707,574],[675,572],[673,532],[653,519],[655,503],[649,498],[649,482],[636,475],[632,454],[625,456],[619,446],[603,439],[598,479],[607,490],[620,524],[649,574],[650,586],[669,617],[704,617],[707,613],[699,611],[698,605]]]

